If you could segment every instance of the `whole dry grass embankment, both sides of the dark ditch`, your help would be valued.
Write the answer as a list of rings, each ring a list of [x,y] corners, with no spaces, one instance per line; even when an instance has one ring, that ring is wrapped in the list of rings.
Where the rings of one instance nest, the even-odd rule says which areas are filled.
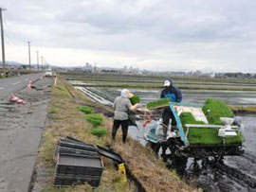
[[[43,191],[92,191],[88,185],[76,187],[55,188],[52,185],[54,163],[52,155],[58,139],[63,135],[74,136],[83,142],[96,144],[102,147],[111,144],[110,131],[112,119],[101,113],[101,128],[107,131],[106,135],[99,137],[93,135],[93,125],[84,119],[84,114],[78,110],[79,106],[93,107],[94,113],[113,113],[112,109],[101,106],[91,101],[80,92],[73,89],[65,80],[59,79],[57,86],[52,87],[51,101],[48,107],[49,123],[43,135],[42,146],[39,151],[39,166],[47,169],[46,183]],[[98,129],[97,128],[97,129]],[[156,159],[149,148],[143,148],[139,143],[128,138],[127,144],[122,145],[120,131],[117,143],[112,145],[125,161],[137,181],[143,185],[146,191],[196,191],[188,184],[182,182],[174,173],[167,169],[163,162]],[[101,185],[94,191],[135,191],[134,183],[122,183],[121,174],[106,159],[103,159],[104,171]]]

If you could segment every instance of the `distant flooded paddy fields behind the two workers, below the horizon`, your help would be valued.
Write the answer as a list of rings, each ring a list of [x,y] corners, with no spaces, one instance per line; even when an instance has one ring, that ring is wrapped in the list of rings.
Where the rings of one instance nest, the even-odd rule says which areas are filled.
[[[142,103],[155,100],[160,96],[163,80],[167,77],[130,76],[109,74],[62,74],[75,86],[84,86],[98,91],[109,100],[119,96],[119,91],[129,88],[140,96]],[[172,77],[174,86],[182,90],[183,101],[203,103],[206,98],[214,97],[230,105],[256,105],[256,80],[252,79],[210,79]]]

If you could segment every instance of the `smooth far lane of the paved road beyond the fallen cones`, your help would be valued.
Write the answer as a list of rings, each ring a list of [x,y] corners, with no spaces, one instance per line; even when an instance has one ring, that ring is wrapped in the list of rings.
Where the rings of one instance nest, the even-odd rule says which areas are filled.
[[[43,74],[29,74],[9,79],[0,79],[0,99],[9,96],[11,93],[20,91],[27,86],[28,81],[40,79]]]

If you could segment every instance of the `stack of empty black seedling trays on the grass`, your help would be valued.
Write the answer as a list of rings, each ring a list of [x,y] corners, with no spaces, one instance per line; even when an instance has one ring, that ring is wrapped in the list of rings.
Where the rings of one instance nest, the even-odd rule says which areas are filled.
[[[97,187],[101,183],[103,165],[96,146],[65,137],[59,140],[55,156],[55,185],[89,183]]]

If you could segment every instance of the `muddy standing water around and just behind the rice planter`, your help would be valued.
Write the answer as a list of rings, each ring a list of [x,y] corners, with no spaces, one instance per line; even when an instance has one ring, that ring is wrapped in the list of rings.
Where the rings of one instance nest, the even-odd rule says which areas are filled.
[[[119,96],[119,89],[97,89],[98,95],[113,101]],[[131,90],[140,96],[143,103],[159,97],[160,90]],[[252,92],[205,92],[184,91],[185,102],[203,103],[207,97],[215,97],[227,101],[229,104],[256,104],[256,94]],[[223,164],[207,164],[202,166],[201,161],[194,162],[188,159],[183,165],[168,165],[175,168],[185,180],[194,183],[204,191],[228,192],[256,192],[256,115],[240,115],[245,125],[245,154],[243,156],[225,157]],[[129,134],[142,145],[146,145],[143,139],[144,132],[149,127],[142,128],[138,123],[138,129],[131,127]]]

